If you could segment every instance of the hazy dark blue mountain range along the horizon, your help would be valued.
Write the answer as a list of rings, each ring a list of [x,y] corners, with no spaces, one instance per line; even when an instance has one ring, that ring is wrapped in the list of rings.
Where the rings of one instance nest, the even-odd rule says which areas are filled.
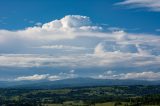
[[[0,88],[26,88],[26,89],[55,89],[67,87],[86,86],[111,86],[111,85],[160,85],[160,81],[146,80],[114,80],[114,79],[92,79],[92,78],[72,78],[57,81],[13,81],[0,82]]]

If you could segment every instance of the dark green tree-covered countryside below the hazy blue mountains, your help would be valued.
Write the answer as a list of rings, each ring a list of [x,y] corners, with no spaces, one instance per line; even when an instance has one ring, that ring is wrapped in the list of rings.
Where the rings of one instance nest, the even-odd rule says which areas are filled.
[[[84,87],[59,90],[0,89],[0,106],[44,106],[45,104],[62,104],[66,101],[84,106],[96,103],[114,102],[115,106],[160,105],[159,86],[109,86]]]

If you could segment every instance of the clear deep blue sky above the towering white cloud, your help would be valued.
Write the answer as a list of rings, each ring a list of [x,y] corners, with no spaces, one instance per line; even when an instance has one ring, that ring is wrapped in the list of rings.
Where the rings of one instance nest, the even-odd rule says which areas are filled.
[[[65,15],[84,15],[98,24],[126,28],[133,32],[159,33],[160,14],[145,8],[128,9],[115,5],[123,0],[1,0],[0,28],[24,29]]]

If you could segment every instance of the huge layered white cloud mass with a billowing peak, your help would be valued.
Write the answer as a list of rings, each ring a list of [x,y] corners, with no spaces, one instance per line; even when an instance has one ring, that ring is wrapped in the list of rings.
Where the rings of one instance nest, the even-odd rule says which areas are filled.
[[[117,72],[157,72],[159,42],[157,35],[109,31],[87,16],[68,15],[23,30],[0,30],[0,68],[97,67]],[[44,78],[38,75],[33,78]]]

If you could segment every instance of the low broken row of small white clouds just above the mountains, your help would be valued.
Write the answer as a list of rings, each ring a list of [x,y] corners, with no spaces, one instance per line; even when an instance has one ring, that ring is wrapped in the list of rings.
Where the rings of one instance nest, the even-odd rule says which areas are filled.
[[[36,80],[62,80],[68,78],[77,78],[78,75],[72,71],[69,73],[60,72],[57,75],[50,74],[34,74],[31,76],[20,76],[15,78],[15,81],[36,81]],[[160,72],[152,72],[152,71],[144,71],[144,72],[128,72],[128,73],[120,73],[116,74],[114,71],[106,71],[103,74],[99,74],[98,76],[89,76],[90,78],[95,79],[132,79],[132,80],[160,80]]]

